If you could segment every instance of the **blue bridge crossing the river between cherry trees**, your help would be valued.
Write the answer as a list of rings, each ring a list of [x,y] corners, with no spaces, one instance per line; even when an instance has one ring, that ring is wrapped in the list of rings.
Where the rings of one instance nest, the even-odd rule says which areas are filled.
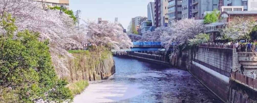
[[[127,52],[127,51],[165,51],[161,42],[132,42],[133,48],[112,50],[112,52]]]

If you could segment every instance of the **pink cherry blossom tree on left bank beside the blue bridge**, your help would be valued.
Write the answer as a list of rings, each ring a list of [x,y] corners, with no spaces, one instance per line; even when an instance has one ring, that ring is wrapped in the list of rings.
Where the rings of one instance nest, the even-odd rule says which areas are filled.
[[[88,21],[88,41],[95,46],[105,46],[110,49],[130,48],[133,46],[131,39],[116,23],[97,23]]]

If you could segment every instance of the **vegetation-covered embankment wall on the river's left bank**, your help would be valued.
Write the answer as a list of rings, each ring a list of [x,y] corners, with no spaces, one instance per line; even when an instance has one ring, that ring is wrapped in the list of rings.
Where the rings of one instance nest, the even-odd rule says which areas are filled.
[[[70,58],[66,65],[69,75],[66,78],[70,83],[87,80],[96,81],[107,79],[115,73],[113,56],[106,55],[104,58],[97,54],[72,53],[75,58]]]

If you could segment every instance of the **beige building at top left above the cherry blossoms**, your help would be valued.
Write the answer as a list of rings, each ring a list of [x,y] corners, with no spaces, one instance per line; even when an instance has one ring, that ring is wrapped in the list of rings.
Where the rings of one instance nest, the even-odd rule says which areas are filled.
[[[47,6],[61,6],[62,4],[69,9],[69,0],[35,0],[42,2],[44,1]]]

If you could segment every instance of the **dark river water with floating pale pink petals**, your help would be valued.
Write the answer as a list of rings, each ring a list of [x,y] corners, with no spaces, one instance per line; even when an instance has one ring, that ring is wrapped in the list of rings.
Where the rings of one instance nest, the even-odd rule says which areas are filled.
[[[187,71],[113,57],[116,73],[108,80],[90,82],[74,103],[220,103]]]

